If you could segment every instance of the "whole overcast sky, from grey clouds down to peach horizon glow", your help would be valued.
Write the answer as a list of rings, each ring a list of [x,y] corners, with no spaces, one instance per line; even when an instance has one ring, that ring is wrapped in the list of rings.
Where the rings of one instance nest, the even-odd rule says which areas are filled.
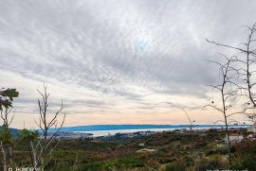
[[[206,43],[242,46],[256,1],[0,0],[1,87],[17,88],[14,128],[34,127],[36,89],[64,99],[65,126],[198,124],[227,55]]]

